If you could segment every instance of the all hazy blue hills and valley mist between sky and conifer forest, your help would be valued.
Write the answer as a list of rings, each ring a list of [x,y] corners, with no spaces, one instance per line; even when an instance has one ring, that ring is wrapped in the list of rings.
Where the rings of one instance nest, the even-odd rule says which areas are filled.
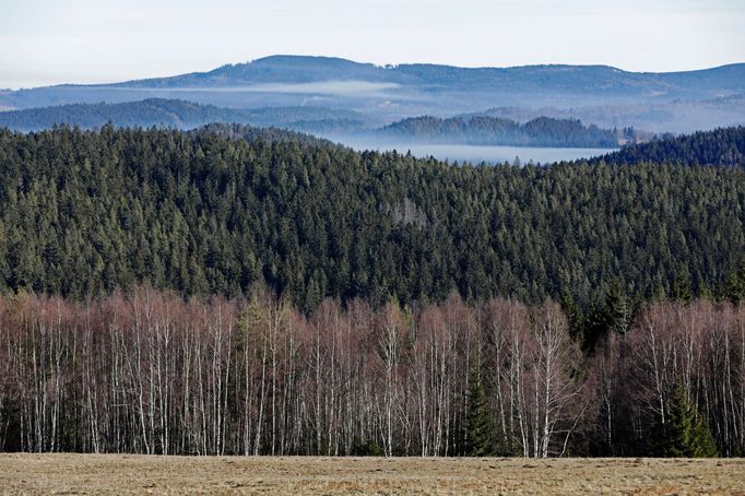
[[[632,73],[602,66],[379,67],[274,56],[170,78],[5,91],[0,125],[27,131],[56,123],[191,129],[237,122],[308,132],[358,150],[545,163],[602,154],[657,133],[743,123],[743,81],[745,64]],[[536,122],[544,129],[536,131]],[[556,129],[546,131],[546,123]],[[575,150],[549,151],[558,147]]]

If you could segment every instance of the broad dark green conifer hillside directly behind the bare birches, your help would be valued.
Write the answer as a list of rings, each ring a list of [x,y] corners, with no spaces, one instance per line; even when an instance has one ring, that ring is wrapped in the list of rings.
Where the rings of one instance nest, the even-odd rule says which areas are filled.
[[[225,134],[0,130],[0,290],[590,302],[616,280],[718,291],[745,252],[742,168],[454,167]]]

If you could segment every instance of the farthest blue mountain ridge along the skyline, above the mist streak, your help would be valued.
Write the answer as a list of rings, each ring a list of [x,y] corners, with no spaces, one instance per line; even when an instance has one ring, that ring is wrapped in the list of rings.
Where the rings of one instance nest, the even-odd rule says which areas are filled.
[[[328,80],[386,82],[400,85],[524,91],[539,87],[606,93],[711,92],[712,86],[737,93],[745,90],[745,63],[681,72],[628,72],[610,66],[542,64],[508,68],[463,68],[433,63],[376,66],[333,57],[270,56],[246,63],[225,64],[208,72],[128,81],[120,87],[221,86],[247,83],[311,83]],[[722,91],[722,90],[719,90]],[[678,95],[681,96],[681,95]],[[721,95],[711,95],[721,96]]]

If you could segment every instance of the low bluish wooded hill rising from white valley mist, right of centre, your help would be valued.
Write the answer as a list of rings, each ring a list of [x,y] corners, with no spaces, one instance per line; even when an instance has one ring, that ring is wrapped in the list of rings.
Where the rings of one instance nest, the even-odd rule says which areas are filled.
[[[386,126],[376,135],[405,142],[577,147],[615,147],[619,139],[612,130],[573,119],[539,117],[520,123],[488,116],[414,117]]]

